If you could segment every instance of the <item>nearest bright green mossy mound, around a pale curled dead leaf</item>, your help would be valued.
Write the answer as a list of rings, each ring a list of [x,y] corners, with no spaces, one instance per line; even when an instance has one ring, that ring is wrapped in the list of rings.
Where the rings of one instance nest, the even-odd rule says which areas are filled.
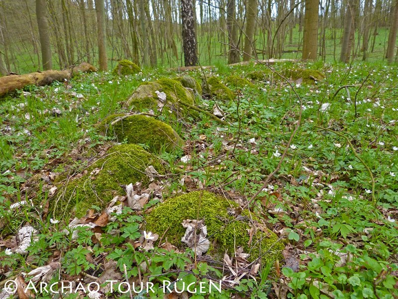
[[[277,235],[268,229],[258,230],[250,245],[250,222],[247,220],[234,220],[227,209],[236,207],[237,204],[225,198],[216,196],[207,191],[196,191],[169,198],[161,203],[146,217],[146,231],[163,235],[172,244],[182,247],[181,238],[185,229],[181,225],[185,219],[203,219],[207,226],[207,238],[215,242],[209,254],[221,256],[225,251],[233,254],[238,246],[243,246],[244,252],[250,254],[252,260],[260,253],[263,262],[272,262],[281,257],[284,245],[278,241]],[[255,217],[253,217],[255,220]]]

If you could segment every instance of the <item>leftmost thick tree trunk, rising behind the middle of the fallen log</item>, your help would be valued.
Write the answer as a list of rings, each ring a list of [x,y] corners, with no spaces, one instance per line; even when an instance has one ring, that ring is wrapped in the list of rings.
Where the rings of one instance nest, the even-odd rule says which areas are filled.
[[[36,16],[37,25],[39,27],[41,60],[43,63],[43,70],[52,68],[51,46],[50,46],[50,32],[48,30],[47,22],[47,7],[46,0],[36,0]]]

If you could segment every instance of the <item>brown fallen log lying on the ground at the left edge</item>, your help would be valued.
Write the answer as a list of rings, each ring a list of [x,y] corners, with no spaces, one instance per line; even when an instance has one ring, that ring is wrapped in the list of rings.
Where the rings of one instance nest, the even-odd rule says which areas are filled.
[[[63,82],[79,73],[88,73],[97,71],[94,66],[87,62],[79,66],[58,70],[48,70],[43,72],[34,72],[24,75],[8,75],[0,77],[0,97],[16,89],[22,89],[27,85],[44,86],[54,81]]]

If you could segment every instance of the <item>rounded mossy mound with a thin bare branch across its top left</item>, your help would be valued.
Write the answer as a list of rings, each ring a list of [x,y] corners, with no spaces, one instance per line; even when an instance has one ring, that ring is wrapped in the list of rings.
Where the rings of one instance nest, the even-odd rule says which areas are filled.
[[[145,144],[155,153],[162,149],[170,151],[184,144],[172,127],[150,116],[131,115],[111,125],[123,116],[108,116],[100,123],[99,131],[106,136],[115,136],[119,142],[126,140],[129,144]]]

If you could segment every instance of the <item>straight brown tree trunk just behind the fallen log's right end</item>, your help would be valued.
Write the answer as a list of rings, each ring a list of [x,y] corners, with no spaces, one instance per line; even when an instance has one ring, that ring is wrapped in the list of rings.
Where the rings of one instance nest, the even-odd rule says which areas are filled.
[[[98,54],[100,58],[100,70],[108,69],[108,61],[106,58],[106,27],[105,27],[105,5],[103,0],[95,0],[97,11],[98,26]]]

